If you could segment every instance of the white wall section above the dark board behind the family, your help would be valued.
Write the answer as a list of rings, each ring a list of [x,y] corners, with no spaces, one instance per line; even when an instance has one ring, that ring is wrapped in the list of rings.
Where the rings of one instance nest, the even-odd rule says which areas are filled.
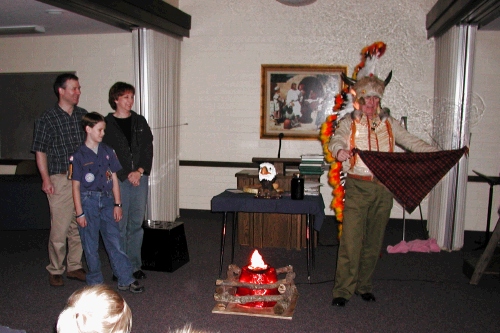
[[[0,72],[76,71],[79,105],[102,114],[111,111],[111,85],[133,82],[133,64],[131,33],[0,38]]]

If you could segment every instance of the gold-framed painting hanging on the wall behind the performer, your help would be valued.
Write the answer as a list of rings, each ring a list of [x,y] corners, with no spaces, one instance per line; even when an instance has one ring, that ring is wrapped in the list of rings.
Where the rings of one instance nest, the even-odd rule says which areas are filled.
[[[317,140],[347,66],[262,65],[261,139]]]

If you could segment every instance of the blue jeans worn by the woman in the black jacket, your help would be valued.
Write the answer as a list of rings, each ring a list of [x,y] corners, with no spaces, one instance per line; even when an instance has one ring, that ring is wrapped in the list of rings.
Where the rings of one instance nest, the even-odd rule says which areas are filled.
[[[120,221],[120,244],[132,263],[132,271],[141,269],[142,223],[148,201],[148,176],[142,176],[139,186],[127,180],[120,183],[123,218]]]

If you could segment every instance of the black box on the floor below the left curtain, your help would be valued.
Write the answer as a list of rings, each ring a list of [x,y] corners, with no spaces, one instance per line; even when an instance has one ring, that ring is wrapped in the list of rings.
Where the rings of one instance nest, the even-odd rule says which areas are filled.
[[[173,272],[189,262],[184,222],[144,221],[142,269]]]

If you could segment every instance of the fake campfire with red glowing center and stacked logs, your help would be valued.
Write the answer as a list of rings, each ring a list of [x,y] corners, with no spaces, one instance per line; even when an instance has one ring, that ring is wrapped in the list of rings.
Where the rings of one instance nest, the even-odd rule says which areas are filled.
[[[286,276],[278,280],[279,274]],[[231,264],[227,279],[215,282],[212,313],[292,319],[299,296],[294,279],[292,266],[274,269],[255,250],[250,265]]]

